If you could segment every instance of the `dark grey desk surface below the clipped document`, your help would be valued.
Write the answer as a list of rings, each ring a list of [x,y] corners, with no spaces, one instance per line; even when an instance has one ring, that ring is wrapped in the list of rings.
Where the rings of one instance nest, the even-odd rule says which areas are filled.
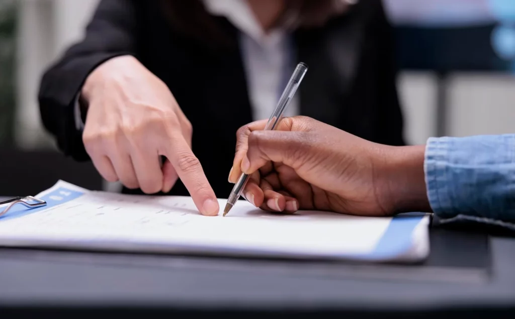
[[[515,238],[489,242],[489,271],[474,280],[438,267],[0,249],[0,308],[515,311]]]

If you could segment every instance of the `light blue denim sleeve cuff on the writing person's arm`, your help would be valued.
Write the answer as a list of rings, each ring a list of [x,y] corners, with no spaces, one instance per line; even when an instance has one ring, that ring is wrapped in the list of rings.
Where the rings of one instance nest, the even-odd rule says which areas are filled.
[[[515,134],[429,138],[424,172],[441,220],[515,229]]]

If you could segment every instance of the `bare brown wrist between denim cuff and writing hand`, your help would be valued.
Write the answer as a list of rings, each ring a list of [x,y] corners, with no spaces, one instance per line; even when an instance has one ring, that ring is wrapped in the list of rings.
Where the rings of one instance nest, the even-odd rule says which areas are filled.
[[[382,207],[390,214],[431,212],[424,174],[425,146],[387,147],[380,169]]]

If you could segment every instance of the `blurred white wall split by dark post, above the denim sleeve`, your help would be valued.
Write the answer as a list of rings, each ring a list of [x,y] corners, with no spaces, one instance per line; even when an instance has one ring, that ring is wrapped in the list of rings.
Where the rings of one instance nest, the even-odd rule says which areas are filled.
[[[405,72],[399,77],[405,137],[424,144],[436,135],[470,136],[515,133],[515,75],[454,73],[443,82],[446,109],[437,114],[438,82],[434,74]],[[443,118],[438,132],[436,120]]]

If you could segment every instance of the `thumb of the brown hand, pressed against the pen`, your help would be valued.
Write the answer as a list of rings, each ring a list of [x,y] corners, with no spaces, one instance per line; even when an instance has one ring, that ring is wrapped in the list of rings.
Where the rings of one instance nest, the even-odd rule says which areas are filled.
[[[309,132],[254,131],[248,137],[248,149],[241,169],[251,174],[269,161],[297,169],[315,154]]]

